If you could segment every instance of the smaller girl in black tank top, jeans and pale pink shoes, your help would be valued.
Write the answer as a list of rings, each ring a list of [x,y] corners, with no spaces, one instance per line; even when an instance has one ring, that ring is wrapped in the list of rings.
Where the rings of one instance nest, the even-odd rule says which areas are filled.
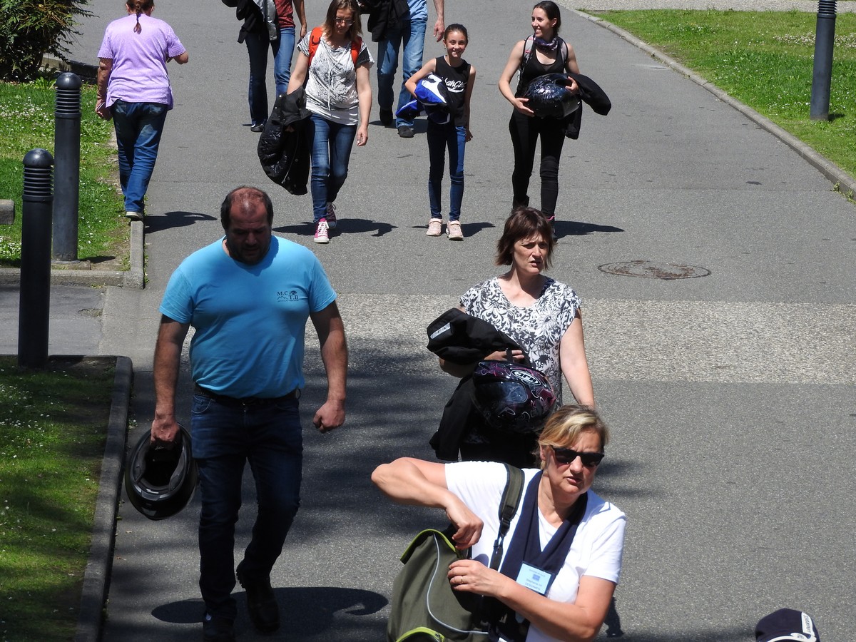
[[[446,55],[433,58],[413,74],[405,83],[407,90],[414,96],[419,80],[434,74],[443,83],[447,95],[448,120],[442,122],[442,115],[435,112],[428,116],[428,157],[431,167],[428,171],[428,202],[431,218],[428,220],[428,236],[440,236],[443,233],[443,213],[440,207],[440,195],[443,187],[443,171],[446,163],[446,150],[449,150],[449,224],[446,234],[450,241],[463,241],[461,230],[461,201],[464,196],[464,149],[470,133],[470,97],[473,95],[473,83],[476,69],[461,55],[467,49],[467,27],[449,25],[443,33],[443,45]]]

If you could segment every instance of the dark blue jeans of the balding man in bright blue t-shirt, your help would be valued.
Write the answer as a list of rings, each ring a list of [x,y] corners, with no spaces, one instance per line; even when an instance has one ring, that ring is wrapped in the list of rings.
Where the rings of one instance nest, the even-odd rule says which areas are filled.
[[[259,513],[241,574],[270,575],[300,506],[303,435],[296,399],[233,406],[193,395],[193,458],[199,467],[199,589],[211,615],[234,620],[235,522],[250,462]]]

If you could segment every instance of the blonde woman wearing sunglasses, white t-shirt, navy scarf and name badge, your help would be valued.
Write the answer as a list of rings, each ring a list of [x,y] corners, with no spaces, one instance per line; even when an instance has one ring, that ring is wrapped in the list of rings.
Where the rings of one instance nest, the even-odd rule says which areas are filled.
[[[625,515],[590,490],[609,431],[594,410],[564,406],[538,437],[541,469],[524,469],[498,571],[488,568],[499,528],[505,467],[401,458],[372,481],[395,502],[443,508],[469,559],[449,566],[454,591],[496,598],[490,639],[591,640],[603,625],[621,574]]]

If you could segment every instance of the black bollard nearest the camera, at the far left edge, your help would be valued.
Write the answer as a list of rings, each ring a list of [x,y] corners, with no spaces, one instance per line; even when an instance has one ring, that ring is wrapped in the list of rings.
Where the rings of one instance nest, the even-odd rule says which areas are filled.
[[[18,366],[44,368],[51,324],[51,208],[53,157],[34,149],[24,157],[21,208],[21,300]]]

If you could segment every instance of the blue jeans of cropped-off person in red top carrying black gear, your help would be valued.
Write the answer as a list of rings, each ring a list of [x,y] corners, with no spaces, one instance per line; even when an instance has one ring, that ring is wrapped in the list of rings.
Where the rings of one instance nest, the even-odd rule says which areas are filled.
[[[250,56],[250,86],[248,98],[250,102],[250,120],[253,125],[264,125],[267,121],[267,51],[268,46],[273,51],[273,77],[276,80],[276,95],[285,93],[288,89],[288,79],[291,78],[291,56],[294,54],[294,27],[279,30],[279,38],[273,42],[265,33],[247,33],[244,42],[247,43],[247,53]]]

